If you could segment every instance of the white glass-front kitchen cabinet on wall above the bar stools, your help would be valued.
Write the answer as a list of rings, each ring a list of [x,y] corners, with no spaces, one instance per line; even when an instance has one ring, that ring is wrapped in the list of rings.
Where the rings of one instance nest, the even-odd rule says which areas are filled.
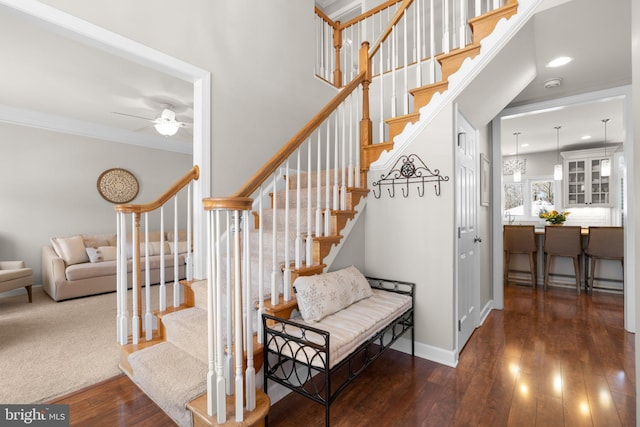
[[[612,176],[602,176],[602,163],[609,161],[611,175],[613,149],[578,150],[562,153],[564,158],[564,206],[611,206]]]

